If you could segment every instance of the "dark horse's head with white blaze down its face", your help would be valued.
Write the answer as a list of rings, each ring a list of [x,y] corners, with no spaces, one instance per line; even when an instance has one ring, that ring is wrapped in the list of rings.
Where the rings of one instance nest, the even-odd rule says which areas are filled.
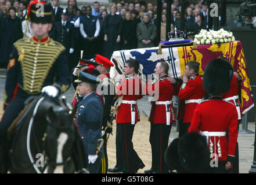
[[[73,117],[61,102],[49,106],[45,117],[47,122],[44,143],[47,165],[45,172],[63,173],[74,143]]]

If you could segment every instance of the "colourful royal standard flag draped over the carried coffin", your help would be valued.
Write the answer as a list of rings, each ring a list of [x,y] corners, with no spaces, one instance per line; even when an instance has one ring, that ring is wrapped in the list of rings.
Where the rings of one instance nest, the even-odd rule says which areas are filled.
[[[125,61],[130,58],[134,58],[140,62],[140,74],[153,74],[157,61],[164,60],[170,66],[169,75],[172,77],[181,77],[188,61],[194,60],[200,63],[199,75],[202,76],[208,62],[214,58],[225,57],[232,64],[234,71],[237,71],[242,78],[241,106],[243,114],[253,108],[254,102],[251,96],[250,79],[240,41],[214,45],[199,45],[196,49],[193,49],[193,46],[183,46],[168,47],[161,50],[161,54],[158,54],[158,47],[114,51],[111,61],[113,61],[115,67],[110,69],[110,77],[116,79],[118,73],[124,68]]]

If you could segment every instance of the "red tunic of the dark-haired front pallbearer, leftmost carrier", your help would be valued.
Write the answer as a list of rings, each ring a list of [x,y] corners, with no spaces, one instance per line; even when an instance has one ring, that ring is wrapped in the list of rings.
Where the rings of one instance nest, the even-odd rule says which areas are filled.
[[[141,81],[139,77],[132,76],[122,81],[117,86],[117,96],[124,95],[122,100],[137,101],[143,97],[141,91]],[[116,122],[117,123],[131,123],[131,104],[121,103],[117,110]],[[135,105],[135,123],[139,121],[138,106]]]

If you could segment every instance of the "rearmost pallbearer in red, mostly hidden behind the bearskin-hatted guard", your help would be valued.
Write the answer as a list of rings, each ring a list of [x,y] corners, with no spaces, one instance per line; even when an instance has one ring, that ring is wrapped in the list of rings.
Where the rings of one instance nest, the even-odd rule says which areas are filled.
[[[231,84],[230,84],[230,90],[222,95],[223,100],[229,101],[236,106],[237,116],[238,116],[238,129],[239,129],[241,117],[243,116],[243,114],[241,113],[241,104],[239,101],[239,91],[240,91],[239,83],[240,82],[241,82],[241,77],[239,76],[239,73],[234,72],[231,80]],[[233,173],[239,173],[239,150],[238,149],[239,149],[239,146],[237,142],[236,157],[235,157],[236,159],[233,162],[233,168],[232,168]]]

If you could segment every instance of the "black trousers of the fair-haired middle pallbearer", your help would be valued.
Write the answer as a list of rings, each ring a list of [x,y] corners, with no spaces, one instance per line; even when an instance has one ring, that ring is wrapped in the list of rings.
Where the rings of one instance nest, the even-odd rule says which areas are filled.
[[[168,147],[172,124],[150,123],[149,142],[152,149],[152,170],[156,173],[168,173],[168,166],[164,161],[164,152]]]

